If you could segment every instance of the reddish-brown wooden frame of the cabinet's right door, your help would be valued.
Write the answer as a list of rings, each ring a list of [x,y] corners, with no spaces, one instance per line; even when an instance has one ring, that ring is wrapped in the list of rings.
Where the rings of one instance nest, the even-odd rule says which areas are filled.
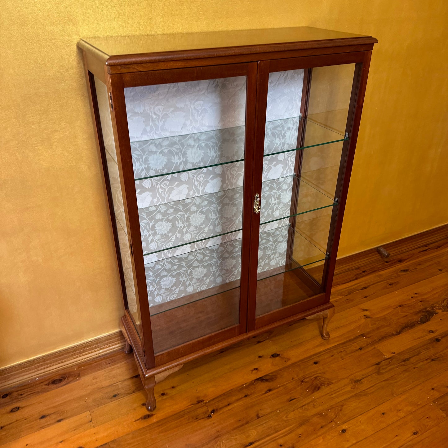
[[[323,293],[310,297],[306,302],[309,306],[321,306],[330,301],[331,285],[336,263],[337,249],[340,239],[342,219],[344,215],[346,195],[348,192],[350,173],[353,165],[354,151],[358,137],[358,128],[361,119],[362,103],[367,82],[368,67],[370,63],[371,51],[351,52],[343,54],[328,54],[322,56],[304,56],[298,58],[262,60],[258,62],[257,77],[257,115],[255,119],[255,147],[254,147],[254,193],[261,193],[263,178],[263,153],[267,108],[267,89],[269,73],[297,70],[313,69],[316,67],[325,67],[330,65],[355,64],[355,75],[352,85],[352,94],[350,98],[349,115],[347,118],[347,129],[349,129],[349,140],[345,141],[347,150],[344,160],[340,163],[340,172],[336,185],[336,194],[338,196],[338,206],[333,207],[333,215],[330,232],[328,237],[328,257],[324,262],[323,275]],[[362,73],[360,77],[357,73]],[[309,86],[308,86],[309,87]],[[306,99],[307,100],[307,99]],[[298,138],[304,137],[302,134]],[[263,207],[263,198],[261,198]],[[253,215],[252,234],[251,234],[251,252],[250,252],[250,276],[249,276],[249,298],[248,298],[248,331],[253,331],[260,326],[269,325],[276,320],[284,319],[291,313],[302,312],[302,302],[290,305],[288,307],[273,310],[267,314],[256,317],[256,293],[257,293],[257,267],[258,267],[258,241],[259,241],[260,215]],[[255,265],[255,266],[254,266]],[[309,276],[305,270],[304,275]]]

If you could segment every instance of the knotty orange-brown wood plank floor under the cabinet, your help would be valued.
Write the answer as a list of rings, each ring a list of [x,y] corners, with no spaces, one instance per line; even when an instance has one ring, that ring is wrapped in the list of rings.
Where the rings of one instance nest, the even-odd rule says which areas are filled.
[[[448,447],[448,226],[342,259],[302,320],[185,365],[116,353],[0,396],[2,447]]]

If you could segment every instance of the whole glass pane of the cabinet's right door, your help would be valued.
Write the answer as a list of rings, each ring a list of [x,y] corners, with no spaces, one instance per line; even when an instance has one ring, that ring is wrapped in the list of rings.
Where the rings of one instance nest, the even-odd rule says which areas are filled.
[[[270,73],[256,315],[323,292],[353,65]]]

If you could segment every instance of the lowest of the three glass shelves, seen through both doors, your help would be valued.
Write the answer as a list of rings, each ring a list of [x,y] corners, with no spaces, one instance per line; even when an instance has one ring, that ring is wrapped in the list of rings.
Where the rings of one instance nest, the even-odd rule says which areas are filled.
[[[308,266],[325,259],[325,254],[289,225],[260,233],[258,258],[266,260],[259,266],[266,270],[259,272],[258,280],[283,273],[288,233],[294,232],[293,263]],[[280,254],[280,266],[269,268],[271,261]],[[299,266],[300,264],[300,266]],[[145,265],[146,284],[150,302],[150,314],[164,313],[174,308],[189,305],[240,286],[241,238],[215,244],[205,248],[175,255],[171,258]]]

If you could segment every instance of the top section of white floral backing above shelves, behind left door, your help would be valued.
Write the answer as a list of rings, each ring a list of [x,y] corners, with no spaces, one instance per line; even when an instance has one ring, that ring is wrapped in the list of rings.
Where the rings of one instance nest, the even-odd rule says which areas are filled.
[[[244,126],[246,77],[125,88],[131,142]]]

